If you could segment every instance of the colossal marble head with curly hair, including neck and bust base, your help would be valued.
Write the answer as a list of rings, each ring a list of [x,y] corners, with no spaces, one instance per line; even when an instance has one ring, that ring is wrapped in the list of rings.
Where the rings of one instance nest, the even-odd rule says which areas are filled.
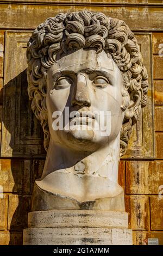
[[[35,29],[27,59],[29,99],[47,150],[32,209],[123,211],[118,162],[148,88],[134,34],[103,13],[60,13]],[[78,115],[66,119],[66,107]],[[108,132],[95,129],[99,117],[109,120]],[[63,129],[54,129],[61,118]]]

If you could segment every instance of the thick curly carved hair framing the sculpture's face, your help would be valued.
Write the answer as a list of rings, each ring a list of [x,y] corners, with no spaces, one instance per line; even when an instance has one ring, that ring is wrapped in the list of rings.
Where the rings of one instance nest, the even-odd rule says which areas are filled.
[[[41,121],[44,147],[49,145],[49,128],[46,107],[47,69],[55,62],[58,51],[74,48],[96,48],[109,52],[123,78],[121,106],[125,111],[121,129],[120,155],[124,155],[133,125],[141,107],[147,103],[148,75],[133,32],[124,21],[105,16],[103,13],[77,11],[60,13],[41,23],[32,33],[27,44],[28,94],[32,110]],[[137,101],[135,108],[131,108]]]

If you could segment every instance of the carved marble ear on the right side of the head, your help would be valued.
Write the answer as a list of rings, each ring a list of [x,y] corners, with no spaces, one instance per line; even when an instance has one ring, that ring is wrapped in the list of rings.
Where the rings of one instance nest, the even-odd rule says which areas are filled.
[[[137,118],[139,117],[139,112],[141,109],[141,101],[143,97],[141,86],[138,86],[138,83],[136,87],[131,86],[129,89],[129,94],[130,94],[129,102],[128,102],[128,106],[126,108],[124,117],[127,119],[132,118],[133,123],[135,123],[137,121]]]

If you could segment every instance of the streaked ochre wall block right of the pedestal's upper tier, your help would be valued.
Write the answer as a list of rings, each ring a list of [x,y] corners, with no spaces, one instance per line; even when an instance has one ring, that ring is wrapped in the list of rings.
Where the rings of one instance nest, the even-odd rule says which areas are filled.
[[[129,228],[148,230],[149,199],[147,196],[126,196],[126,211],[129,213]]]

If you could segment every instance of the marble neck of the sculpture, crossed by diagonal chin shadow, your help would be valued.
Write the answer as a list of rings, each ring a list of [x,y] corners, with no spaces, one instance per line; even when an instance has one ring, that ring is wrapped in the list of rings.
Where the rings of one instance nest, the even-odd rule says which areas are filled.
[[[47,152],[42,179],[55,170],[74,174],[108,177],[117,181],[120,152],[120,135],[93,153],[73,151],[54,144],[51,140]]]

